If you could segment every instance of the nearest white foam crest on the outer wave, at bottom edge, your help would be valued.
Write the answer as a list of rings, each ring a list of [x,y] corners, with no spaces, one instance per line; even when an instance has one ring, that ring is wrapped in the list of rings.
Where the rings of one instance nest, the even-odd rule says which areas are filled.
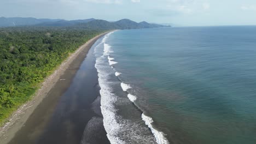
[[[144,113],[142,113],[141,117],[142,117],[143,121],[145,122],[145,124],[148,125],[148,127],[151,129],[153,135],[155,136],[155,140],[158,144],[168,144],[169,143],[168,140],[166,139],[166,137],[164,136],[165,135],[164,133],[153,128],[152,123],[154,121],[151,117],[144,115]]]

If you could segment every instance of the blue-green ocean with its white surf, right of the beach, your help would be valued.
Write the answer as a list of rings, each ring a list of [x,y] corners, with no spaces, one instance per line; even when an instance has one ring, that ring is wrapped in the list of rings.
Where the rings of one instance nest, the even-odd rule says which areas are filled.
[[[110,143],[256,143],[256,27],[115,31],[94,55]]]

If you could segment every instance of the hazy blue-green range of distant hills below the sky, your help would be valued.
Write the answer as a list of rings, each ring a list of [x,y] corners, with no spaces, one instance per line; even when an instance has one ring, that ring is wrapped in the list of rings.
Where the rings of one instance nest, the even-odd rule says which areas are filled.
[[[34,19],[31,17],[0,17],[0,27],[10,26],[37,26],[37,27],[81,27],[90,29],[136,29],[136,28],[156,28],[164,27],[163,25],[148,23],[148,22],[135,22],[129,19],[123,19],[115,22],[105,20],[85,19],[85,20],[60,20],[60,19]],[[165,26],[166,27],[166,26]]]

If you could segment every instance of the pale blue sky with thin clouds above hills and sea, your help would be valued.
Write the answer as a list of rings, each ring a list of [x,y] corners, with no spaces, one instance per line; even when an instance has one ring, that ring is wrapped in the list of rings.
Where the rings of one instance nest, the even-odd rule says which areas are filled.
[[[256,25],[256,0],[0,0],[0,17]]]

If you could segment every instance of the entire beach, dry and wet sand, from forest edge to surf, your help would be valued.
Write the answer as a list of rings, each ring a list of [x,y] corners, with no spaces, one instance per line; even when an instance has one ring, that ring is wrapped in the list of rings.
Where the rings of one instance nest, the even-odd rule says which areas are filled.
[[[0,129],[0,143],[109,143],[90,50],[102,35],[81,46],[45,80],[36,96]]]

